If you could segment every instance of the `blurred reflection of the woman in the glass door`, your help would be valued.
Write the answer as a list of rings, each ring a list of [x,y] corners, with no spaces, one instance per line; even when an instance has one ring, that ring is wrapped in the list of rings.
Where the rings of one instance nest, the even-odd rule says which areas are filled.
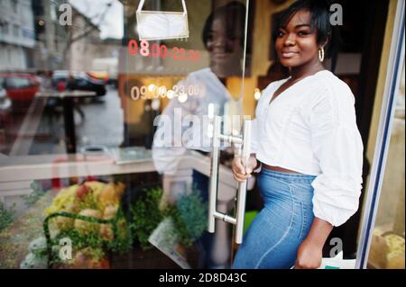
[[[244,28],[244,4],[231,2],[208,17],[202,36],[209,52],[210,67],[190,73],[177,85],[180,93],[188,93],[189,86],[198,87],[197,94],[172,99],[162,112],[152,148],[154,164],[160,173],[175,175],[181,156],[188,149],[209,151],[208,121],[204,117],[210,113],[222,115],[225,103],[233,99],[226,89],[226,77],[242,75]],[[170,119],[172,129],[176,129],[175,121],[179,118],[183,120],[181,133],[178,130],[165,130],[165,120]],[[192,133],[187,130],[192,130]],[[170,142],[165,140],[169,133],[174,135]],[[208,177],[193,171],[193,184],[201,193],[203,201],[207,202]],[[201,241],[208,256],[205,258],[205,266],[212,267],[214,263],[209,258],[211,235],[205,234]]]

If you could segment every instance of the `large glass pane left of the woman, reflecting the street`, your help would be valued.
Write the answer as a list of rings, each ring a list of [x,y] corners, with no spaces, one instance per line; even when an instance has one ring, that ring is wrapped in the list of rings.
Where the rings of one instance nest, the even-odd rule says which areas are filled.
[[[11,185],[0,191],[0,216],[7,223],[0,227],[0,267],[48,267],[44,259],[50,254],[32,263],[28,249],[36,243],[43,247],[47,215],[67,211],[124,220],[119,208],[132,222],[122,221],[121,235],[103,224],[60,218],[49,221],[51,244],[58,248],[60,239],[68,238],[73,258],[98,258],[97,264],[116,268],[202,266],[206,251],[198,238],[207,224],[210,127],[215,115],[224,115],[228,134],[241,130],[249,66],[244,54],[249,7],[245,0],[228,2],[186,1],[184,9],[181,0],[145,1],[139,15],[143,22],[134,14],[138,1],[69,1],[75,7],[72,25],[56,22],[56,27],[36,30],[33,71],[29,63],[5,71],[13,104],[0,112],[5,119],[0,122],[0,179],[18,183],[18,191]],[[57,9],[65,1],[53,3]],[[32,19],[52,19],[47,11],[30,13]],[[160,12],[171,22],[162,20]],[[167,31],[170,26],[173,30]],[[23,49],[10,49],[24,58]],[[32,74],[30,80],[18,76],[26,73]],[[30,81],[41,87],[23,89]],[[162,145],[156,135],[166,128],[174,134],[166,133]],[[223,149],[220,168],[226,175],[219,182],[226,202],[232,202],[233,151]],[[11,179],[18,161],[34,170]],[[72,202],[58,203],[65,200]],[[225,202],[220,209],[232,213]],[[164,220],[168,215],[171,220]],[[230,265],[230,228],[217,223],[221,232],[213,238],[225,247],[211,267]],[[123,230],[132,238],[118,238]],[[106,263],[102,259],[110,252],[115,259]],[[55,255],[51,267],[72,264]]]

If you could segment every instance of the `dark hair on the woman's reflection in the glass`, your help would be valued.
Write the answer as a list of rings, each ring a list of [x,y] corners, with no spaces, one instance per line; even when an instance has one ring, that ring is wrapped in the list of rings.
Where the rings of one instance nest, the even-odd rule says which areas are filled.
[[[208,16],[202,32],[202,40],[206,48],[208,48],[208,39],[211,31],[211,26],[215,19],[222,18],[226,20],[226,30],[235,31],[239,29],[242,33],[241,46],[244,47],[245,33],[245,4],[237,1],[232,1],[224,6],[217,8]]]

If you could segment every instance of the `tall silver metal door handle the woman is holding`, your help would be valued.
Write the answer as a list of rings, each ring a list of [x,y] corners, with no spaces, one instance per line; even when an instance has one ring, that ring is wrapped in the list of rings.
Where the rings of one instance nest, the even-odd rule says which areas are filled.
[[[214,233],[216,220],[223,220],[235,225],[235,243],[243,242],[244,220],[245,220],[245,199],[246,180],[238,184],[237,208],[235,217],[217,211],[217,188],[218,188],[218,161],[220,154],[221,140],[235,144],[239,156],[245,158],[245,163],[250,157],[251,144],[251,121],[245,120],[243,135],[241,137],[227,136],[221,133],[221,117],[216,116],[213,125],[213,148],[211,155],[210,169],[210,190],[208,194],[208,232]]]

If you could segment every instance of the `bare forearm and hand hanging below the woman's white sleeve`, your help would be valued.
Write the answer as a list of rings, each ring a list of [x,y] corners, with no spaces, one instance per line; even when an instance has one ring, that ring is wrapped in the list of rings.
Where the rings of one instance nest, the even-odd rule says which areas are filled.
[[[323,246],[333,226],[326,220],[314,218],[308,237],[300,244],[296,269],[315,269],[321,265]]]

